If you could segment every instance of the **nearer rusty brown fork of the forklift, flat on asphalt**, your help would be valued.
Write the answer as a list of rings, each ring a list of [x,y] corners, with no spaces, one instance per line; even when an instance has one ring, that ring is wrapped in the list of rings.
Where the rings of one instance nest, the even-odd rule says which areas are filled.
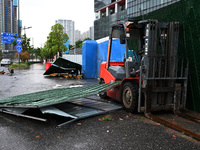
[[[189,136],[191,136],[191,137],[193,137],[193,138],[195,138],[195,139],[200,141],[200,135],[195,133],[195,132],[192,132],[192,131],[190,131],[188,129],[185,129],[185,128],[181,127],[181,126],[178,126],[178,125],[176,125],[174,123],[171,123],[171,122],[169,122],[169,121],[167,121],[165,119],[162,119],[162,118],[157,117],[157,116],[152,115],[152,114],[148,114],[148,117],[153,121],[159,122],[159,123],[161,123],[161,124],[163,124],[165,126],[168,126],[168,127],[172,128],[172,129],[175,129],[177,131],[184,132],[185,134],[187,134],[187,135],[189,135]]]

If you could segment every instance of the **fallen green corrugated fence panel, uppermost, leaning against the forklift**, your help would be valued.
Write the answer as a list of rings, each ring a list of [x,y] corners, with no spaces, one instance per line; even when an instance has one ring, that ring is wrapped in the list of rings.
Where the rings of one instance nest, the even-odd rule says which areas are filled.
[[[14,97],[0,99],[0,107],[43,107],[57,103],[63,103],[72,99],[97,94],[116,87],[120,82],[108,84],[91,85],[83,87],[72,87],[52,89],[36,93],[24,94]]]

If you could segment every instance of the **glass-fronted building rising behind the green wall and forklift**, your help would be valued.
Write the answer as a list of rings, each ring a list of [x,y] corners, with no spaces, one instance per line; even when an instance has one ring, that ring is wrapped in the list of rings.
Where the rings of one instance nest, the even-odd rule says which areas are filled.
[[[94,39],[108,36],[110,24],[117,20],[142,16],[178,1],[180,0],[94,0]]]

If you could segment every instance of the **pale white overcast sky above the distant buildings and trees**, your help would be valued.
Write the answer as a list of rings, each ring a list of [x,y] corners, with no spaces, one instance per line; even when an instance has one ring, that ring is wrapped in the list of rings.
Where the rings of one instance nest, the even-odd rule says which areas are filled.
[[[35,48],[44,45],[58,19],[73,20],[81,33],[89,30],[95,19],[94,0],[20,0],[22,27],[32,27],[26,35]]]

